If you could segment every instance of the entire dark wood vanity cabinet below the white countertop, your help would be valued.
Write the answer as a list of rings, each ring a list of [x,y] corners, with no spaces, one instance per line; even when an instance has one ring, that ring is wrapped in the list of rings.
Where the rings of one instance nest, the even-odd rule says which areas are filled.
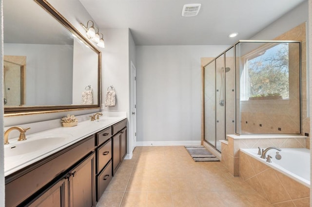
[[[5,206],[94,207],[127,153],[127,120],[5,177]]]

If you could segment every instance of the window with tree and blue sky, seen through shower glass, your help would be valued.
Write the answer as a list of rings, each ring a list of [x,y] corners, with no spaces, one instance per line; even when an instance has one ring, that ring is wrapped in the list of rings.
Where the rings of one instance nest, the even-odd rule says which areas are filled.
[[[242,101],[289,99],[289,43],[265,45],[243,61]]]

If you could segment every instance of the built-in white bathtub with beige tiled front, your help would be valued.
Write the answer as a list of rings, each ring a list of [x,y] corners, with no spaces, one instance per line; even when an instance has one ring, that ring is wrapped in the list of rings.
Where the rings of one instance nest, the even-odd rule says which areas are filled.
[[[300,171],[310,171],[310,151],[308,149],[299,149],[294,152],[293,150],[282,149],[280,153],[285,152],[282,159],[276,160],[273,158],[272,163],[267,163],[265,159],[260,158],[257,155],[257,149],[240,150],[240,176],[260,195],[268,199],[273,206],[310,206],[310,181],[300,178],[276,164],[283,159],[290,159],[288,162],[290,165],[300,165],[301,170],[295,169],[297,173],[302,174]],[[291,160],[293,158],[287,157],[287,151],[292,155],[297,154],[299,157]],[[271,150],[268,154],[274,157],[275,152]],[[303,158],[305,156],[307,158],[306,163],[304,163]],[[298,166],[293,167],[298,168]],[[310,179],[309,175],[310,173],[307,172],[306,178]],[[305,176],[304,173],[301,176]]]

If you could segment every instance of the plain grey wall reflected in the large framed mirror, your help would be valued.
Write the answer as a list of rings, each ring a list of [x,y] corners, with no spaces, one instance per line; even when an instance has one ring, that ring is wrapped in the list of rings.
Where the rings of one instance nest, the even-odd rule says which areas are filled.
[[[4,44],[3,47],[4,55],[26,56],[25,105],[72,104],[73,46]]]

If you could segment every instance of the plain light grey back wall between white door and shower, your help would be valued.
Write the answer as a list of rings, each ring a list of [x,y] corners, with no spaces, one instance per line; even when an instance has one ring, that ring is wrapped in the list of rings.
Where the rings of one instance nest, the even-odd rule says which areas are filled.
[[[199,141],[201,57],[229,46],[137,46],[137,141]]]

